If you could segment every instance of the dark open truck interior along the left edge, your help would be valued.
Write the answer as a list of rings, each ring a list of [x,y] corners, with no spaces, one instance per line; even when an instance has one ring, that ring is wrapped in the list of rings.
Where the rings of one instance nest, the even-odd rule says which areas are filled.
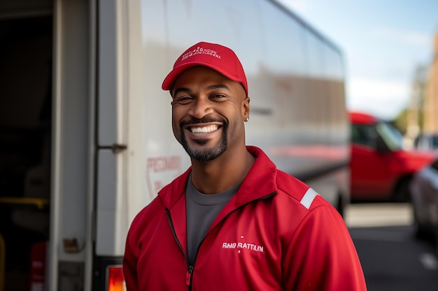
[[[7,2],[0,5],[0,290],[36,290],[31,251],[48,241],[50,225],[52,4],[29,12],[13,7],[22,1]]]

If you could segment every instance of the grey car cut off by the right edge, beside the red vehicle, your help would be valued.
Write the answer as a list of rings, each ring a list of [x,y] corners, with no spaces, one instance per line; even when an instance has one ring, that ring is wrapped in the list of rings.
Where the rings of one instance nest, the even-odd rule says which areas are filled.
[[[438,156],[414,174],[409,188],[416,236],[438,243]]]

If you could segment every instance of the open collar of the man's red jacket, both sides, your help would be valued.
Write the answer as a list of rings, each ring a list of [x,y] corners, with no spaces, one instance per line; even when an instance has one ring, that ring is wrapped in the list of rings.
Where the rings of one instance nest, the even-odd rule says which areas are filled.
[[[246,175],[245,179],[235,195],[234,207],[240,207],[250,201],[266,197],[277,191],[276,166],[266,154],[258,147],[247,146],[246,149],[255,156],[255,163]],[[165,186],[158,195],[164,207],[171,209],[176,202],[185,194],[185,186],[192,167],[189,167],[181,176],[171,184]],[[232,202],[230,201],[230,202]]]

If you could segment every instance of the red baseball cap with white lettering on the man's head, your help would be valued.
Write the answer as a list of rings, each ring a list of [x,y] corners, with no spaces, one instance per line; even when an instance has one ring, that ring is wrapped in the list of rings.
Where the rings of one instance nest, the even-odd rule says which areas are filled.
[[[193,66],[206,66],[216,70],[234,82],[241,83],[248,95],[248,83],[246,82],[245,72],[236,54],[223,45],[217,43],[197,43],[189,47],[181,54],[174,64],[174,69],[164,79],[163,90],[170,90],[176,78],[184,70]]]

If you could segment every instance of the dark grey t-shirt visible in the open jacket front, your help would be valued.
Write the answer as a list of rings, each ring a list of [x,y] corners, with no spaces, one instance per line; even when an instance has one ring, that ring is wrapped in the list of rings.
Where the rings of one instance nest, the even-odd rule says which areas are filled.
[[[203,194],[192,184],[192,174],[185,188],[187,209],[187,256],[191,266],[195,264],[199,244],[225,204],[234,196],[241,183],[217,194]]]

